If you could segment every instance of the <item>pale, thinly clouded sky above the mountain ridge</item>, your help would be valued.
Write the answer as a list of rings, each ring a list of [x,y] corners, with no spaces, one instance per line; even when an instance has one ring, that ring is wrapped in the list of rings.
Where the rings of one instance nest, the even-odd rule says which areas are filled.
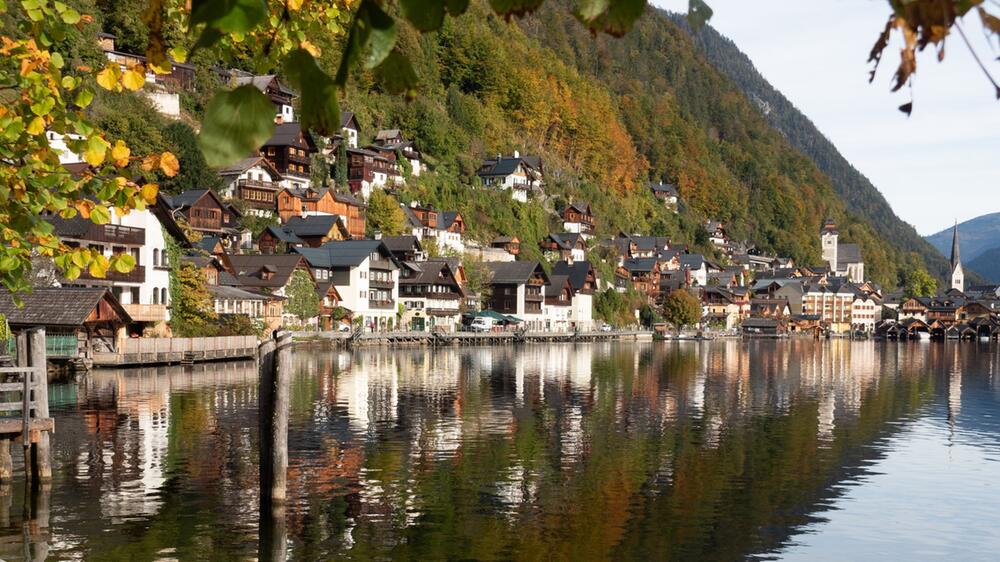
[[[686,13],[687,0],[651,0]],[[898,43],[886,49],[875,82],[868,53],[889,16],[885,0],[706,0],[710,25],[732,39],[757,70],[801,110],[923,235],[1000,212],[1000,101],[961,37],[945,60],[917,56],[913,115],[890,92]],[[994,5],[996,8],[996,5]],[[1000,9],[994,9],[994,13]],[[1000,78],[979,16],[963,28]],[[996,41],[993,46],[995,48]]]

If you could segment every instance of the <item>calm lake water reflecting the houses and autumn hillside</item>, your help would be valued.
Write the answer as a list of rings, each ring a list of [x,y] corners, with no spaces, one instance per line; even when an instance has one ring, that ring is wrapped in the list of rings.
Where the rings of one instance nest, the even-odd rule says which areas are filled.
[[[290,501],[283,517],[264,518],[263,541],[255,367],[104,371],[51,389],[54,481],[28,497],[20,481],[0,489],[0,558],[995,560],[1000,551],[995,344],[294,357]]]

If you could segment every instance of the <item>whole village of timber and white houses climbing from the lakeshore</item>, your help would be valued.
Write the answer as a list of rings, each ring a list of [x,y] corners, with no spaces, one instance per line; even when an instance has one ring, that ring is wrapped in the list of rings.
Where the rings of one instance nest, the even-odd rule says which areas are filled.
[[[113,39],[102,36],[109,60],[141,62],[138,55],[116,51]],[[159,111],[176,116],[179,102],[171,92],[183,88],[189,71],[178,64],[170,75],[150,75],[145,95]],[[198,303],[176,302],[191,298],[190,290],[178,286],[184,269],[197,272],[193,283],[185,277],[186,287],[207,293],[201,306],[234,334],[281,327],[454,332],[477,317],[488,317],[492,330],[550,332],[643,324],[752,336],[1000,333],[1000,289],[964,286],[957,241],[950,290],[907,299],[866,277],[859,246],[841,242],[832,220],[816,233],[822,262],[813,264],[759,251],[752,241],[731,238],[727,225],[714,220],[705,221],[700,234],[712,255],[694,251],[688,241],[648,233],[599,236],[606,217],[587,201],[552,208],[558,215],[552,222],[561,230],[538,242],[511,232],[476,240],[467,235],[473,217],[402,196],[408,180],[434,173],[420,138],[407,138],[398,128],[364,131],[348,110],[341,112],[339,135],[316,138],[296,121],[296,93],[278,77],[226,75],[274,102],[274,135],[258,152],[216,170],[219,189],[161,193],[150,208],[113,214],[106,225],[51,217],[67,245],[100,248],[106,255],[126,252],[137,265],[104,278],[84,272],[72,281],[40,282],[39,288],[106,291],[94,301],[105,303],[99,326],[53,321],[50,330],[76,333],[82,349],[104,351],[125,337],[170,335],[181,306],[197,314]],[[172,88],[161,87],[167,82]],[[374,141],[361,146],[365,137]],[[71,172],[85,166],[68,151],[62,156]],[[330,170],[319,181],[317,161]],[[488,190],[509,195],[512,206],[552,205],[537,155],[484,156],[476,177],[469,186],[473,197],[475,190]],[[684,205],[677,188],[666,183],[650,183],[647,196],[671,212]],[[402,234],[382,233],[369,220],[375,199],[398,206],[393,212],[402,216]],[[261,224],[266,226],[256,232],[251,228]],[[536,243],[543,259],[526,259],[526,244]],[[50,293],[55,309],[61,300],[78,298],[69,290]],[[698,317],[669,318],[666,301],[678,293],[697,299]]]

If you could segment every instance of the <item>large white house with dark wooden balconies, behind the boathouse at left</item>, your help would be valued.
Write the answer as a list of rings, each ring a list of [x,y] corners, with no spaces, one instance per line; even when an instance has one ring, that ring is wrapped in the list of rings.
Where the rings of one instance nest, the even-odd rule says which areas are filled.
[[[156,210],[165,214],[162,208]],[[79,215],[71,219],[53,216],[48,221],[53,233],[69,247],[95,249],[109,258],[129,254],[135,260],[131,271],[108,269],[104,277],[95,277],[84,268],[78,278],[63,281],[64,286],[109,289],[116,305],[122,306],[133,322],[155,324],[170,320],[167,242],[153,208],[133,209],[124,215],[112,208],[110,221],[104,225]]]

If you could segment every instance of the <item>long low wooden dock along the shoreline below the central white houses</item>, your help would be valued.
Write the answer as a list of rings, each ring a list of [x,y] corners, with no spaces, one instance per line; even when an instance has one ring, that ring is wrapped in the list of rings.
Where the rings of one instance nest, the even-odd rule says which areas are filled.
[[[513,345],[527,343],[588,343],[601,341],[652,341],[653,332],[294,332],[299,341],[329,341],[345,347],[399,345]]]

